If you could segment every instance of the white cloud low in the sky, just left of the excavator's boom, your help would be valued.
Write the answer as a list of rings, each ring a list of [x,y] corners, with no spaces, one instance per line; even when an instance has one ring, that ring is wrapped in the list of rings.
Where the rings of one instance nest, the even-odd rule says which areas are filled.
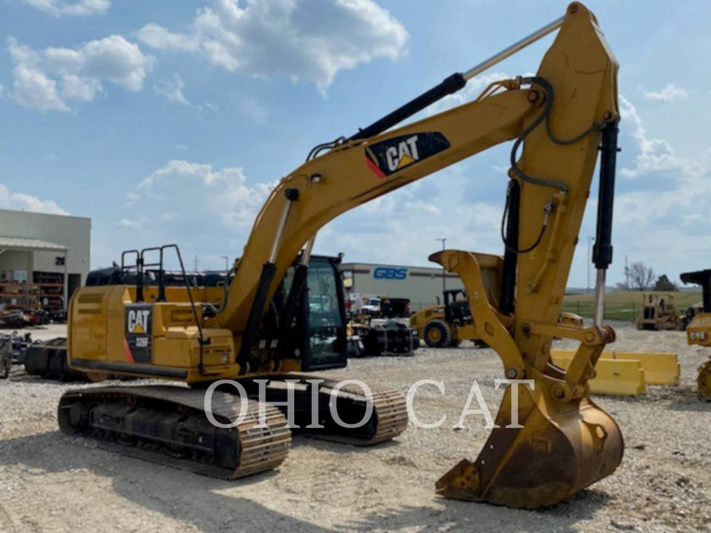
[[[144,178],[127,198],[136,210],[149,202],[151,210],[181,213],[181,220],[210,225],[218,219],[226,227],[247,229],[275,183],[248,186],[245,181],[239,167],[213,170],[208,164],[173,159]]]

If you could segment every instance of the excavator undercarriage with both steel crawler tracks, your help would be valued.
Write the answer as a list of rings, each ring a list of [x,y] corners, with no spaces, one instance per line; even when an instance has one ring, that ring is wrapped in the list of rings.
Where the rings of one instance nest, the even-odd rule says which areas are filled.
[[[233,428],[214,426],[205,416],[205,390],[171,385],[77,389],[63,395],[58,409],[60,429],[100,441],[100,447],[172,468],[213,478],[236,479],[277,468],[287,457],[292,431],[321,440],[371,446],[405,431],[407,410],[395,389],[371,389],[366,397],[357,386],[346,385],[336,397],[336,412],[346,424],[357,424],[371,402],[373,413],[355,431],[343,431],[329,409],[338,382],[311,375],[272,376],[264,397],[285,404],[284,379],[294,381],[294,428],[287,413],[267,405],[260,427],[259,395],[252,380],[245,419]],[[306,380],[310,381],[306,381]],[[319,383],[314,383],[319,382]],[[312,409],[316,387],[317,414]],[[213,392],[210,406],[215,420],[232,424],[240,417],[242,399],[224,387]],[[251,392],[251,394],[250,394]],[[321,428],[307,428],[316,422]]]

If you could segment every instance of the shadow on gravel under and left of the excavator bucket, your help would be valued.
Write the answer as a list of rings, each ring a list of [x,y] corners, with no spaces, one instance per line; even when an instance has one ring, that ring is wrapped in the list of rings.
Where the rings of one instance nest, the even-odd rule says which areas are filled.
[[[434,492],[434,487],[432,490]],[[577,522],[592,519],[597,510],[608,505],[611,499],[606,492],[584,489],[558,505],[529,511],[435,496],[431,505],[375,512],[357,522],[341,524],[336,529],[388,531],[426,526],[428,530],[456,531],[569,531]]]

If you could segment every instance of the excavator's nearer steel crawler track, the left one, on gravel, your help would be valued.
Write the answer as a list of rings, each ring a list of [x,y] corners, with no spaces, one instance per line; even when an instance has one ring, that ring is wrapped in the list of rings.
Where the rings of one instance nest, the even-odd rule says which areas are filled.
[[[97,438],[109,451],[213,478],[272,470],[287,457],[292,436],[279,409],[267,406],[267,427],[258,428],[259,405],[248,400],[241,424],[218,428],[204,399],[204,391],[170,385],[77,389],[60,399],[58,420],[63,433]],[[212,409],[230,424],[240,398],[214,392]]]

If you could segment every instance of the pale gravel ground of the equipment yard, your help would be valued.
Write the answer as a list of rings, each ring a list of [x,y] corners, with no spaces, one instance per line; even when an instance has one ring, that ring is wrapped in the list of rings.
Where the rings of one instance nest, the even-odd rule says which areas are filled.
[[[650,386],[634,399],[597,397],[621,427],[624,459],[614,475],[555,507],[510,510],[434,495],[437,478],[461,458],[476,457],[488,436],[476,416],[466,429],[451,429],[472,379],[492,410],[501,398],[493,389],[502,373],[496,353],[464,343],[456,350],[423,348],[415,357],[353,360],[347,371],[323,372],[403,393],[419,379],[442,379],[447,395],[423,387],[415,409],[422,421],[446,414],[447,424],[411,425],[374,448],[296,436],[279,470],[233,482],[63,436],[55,409],[76,384],[27,376],[0,381],[0,531],[710,530],[711,403],[695,394],[696,369],[708,353],[688,347],[684,333],[615,326],[614,348],[678,352],[682,381]],[[52,337],[55,329],[33,337]]]

